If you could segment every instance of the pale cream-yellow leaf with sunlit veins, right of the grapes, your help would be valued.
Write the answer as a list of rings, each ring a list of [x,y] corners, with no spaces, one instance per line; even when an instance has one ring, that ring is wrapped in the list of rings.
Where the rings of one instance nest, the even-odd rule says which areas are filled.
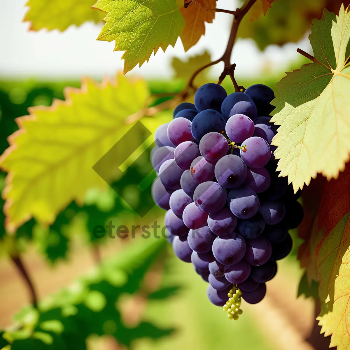
[[[325,16],[329,15],[325,13]],[[323,30],[329,30],[327,22],[324,23]],[[336,178],[349,159],[350,105],[346,91],[350,91],[350,67],[345,65],[345,52],[350,38],[350,14],[344,7],[339,11],[337,22],[332,21],[330,35],[337,68],[329,69],[332,73],[329,84],[320,96],[296,108],[286,102],[282,111],[271,119],[281,125],[272,141],[278,146],[277,170],[281,171],[280,176],[288,176],[295,191],[302,189],[304,183],[308,185],[317,173],[328,180]],[[309,93],[314,89],[315,86]]]

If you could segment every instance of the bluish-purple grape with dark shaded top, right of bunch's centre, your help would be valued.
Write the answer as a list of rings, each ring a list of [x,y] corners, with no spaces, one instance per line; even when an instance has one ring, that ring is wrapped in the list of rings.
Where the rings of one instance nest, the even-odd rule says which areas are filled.
[[[257,214],[259,198],[257,194],[246,186],[234,188],[228,194],[227,201],[233,214],[240,219],[250,219]]]

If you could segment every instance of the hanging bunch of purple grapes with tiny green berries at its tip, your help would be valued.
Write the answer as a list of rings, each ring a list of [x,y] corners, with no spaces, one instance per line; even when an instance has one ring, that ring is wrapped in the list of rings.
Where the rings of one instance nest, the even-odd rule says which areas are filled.
[[[155,203],[175,255],[209,282],[210,302],[230,319],[241,299],[254,304],[292,249],[288,230],[303,209],[286,178],[276,172],[270,123],[273,91],[252,85],[227,95],[218,84],[201,86],[194,104],[181,103],[174,119],[155,132],[151,161],[159,176]]]

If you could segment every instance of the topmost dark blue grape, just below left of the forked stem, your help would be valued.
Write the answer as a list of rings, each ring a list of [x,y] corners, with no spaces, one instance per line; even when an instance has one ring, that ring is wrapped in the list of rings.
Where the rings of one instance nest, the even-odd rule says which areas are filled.
[[[195,93],[195,106],[197,111],[221,111],[221,104],[227,97],[226,90],[219,84],[208,83],[202,85]]]

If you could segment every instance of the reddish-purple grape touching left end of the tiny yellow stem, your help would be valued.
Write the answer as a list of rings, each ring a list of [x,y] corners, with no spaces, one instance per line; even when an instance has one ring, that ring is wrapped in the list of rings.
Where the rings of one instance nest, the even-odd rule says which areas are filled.
[[[199,143],[201,155],[208,162],[218,161],[226,155],[229,148],[229,144],[224,135],[218,132],[205,134]]]

